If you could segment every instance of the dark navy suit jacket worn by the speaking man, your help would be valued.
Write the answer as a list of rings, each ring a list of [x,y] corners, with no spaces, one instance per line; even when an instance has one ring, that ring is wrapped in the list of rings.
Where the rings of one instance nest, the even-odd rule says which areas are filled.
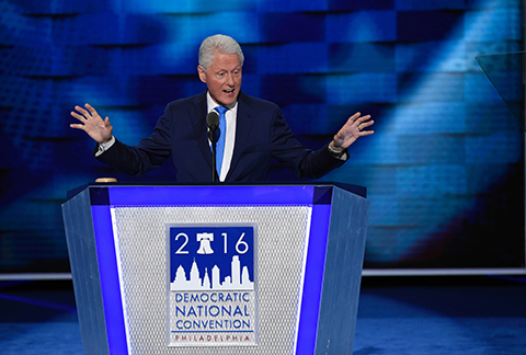
[[[159,118],[153,133],[138,146],[116,141],[98,159],[130,175],[144,174],[172,157],[180,182],[210,182],[211,151],[206,126],[206,90],[173,101]],[[312,151],[290,131],[281,108],[268,101],[240,93],[236,145],[226,181],[265,181],[272,158],[298,178],[318,179],[342,165],[327,145]]]

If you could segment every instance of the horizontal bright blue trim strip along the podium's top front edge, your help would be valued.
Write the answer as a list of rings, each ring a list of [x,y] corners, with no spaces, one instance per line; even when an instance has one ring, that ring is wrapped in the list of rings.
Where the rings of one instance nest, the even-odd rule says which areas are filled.
[[[316,186],[116,186],[111,205],[311,205]]]

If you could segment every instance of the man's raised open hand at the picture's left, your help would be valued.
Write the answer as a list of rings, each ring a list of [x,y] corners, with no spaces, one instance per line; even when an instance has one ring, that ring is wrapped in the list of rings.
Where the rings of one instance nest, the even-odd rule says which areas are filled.
[[[82,129],[91,138],[100,144],[105,144],[112,140],[113,127],[110,123],[110,117],[102,119],[102,117],[96,113],[90,104],[85,104],[84,108],[80,106],[75,106],[75,110],[78,112],[71,112],[71,116],[80,121],[80,124],[69,125],[71,128]]]

